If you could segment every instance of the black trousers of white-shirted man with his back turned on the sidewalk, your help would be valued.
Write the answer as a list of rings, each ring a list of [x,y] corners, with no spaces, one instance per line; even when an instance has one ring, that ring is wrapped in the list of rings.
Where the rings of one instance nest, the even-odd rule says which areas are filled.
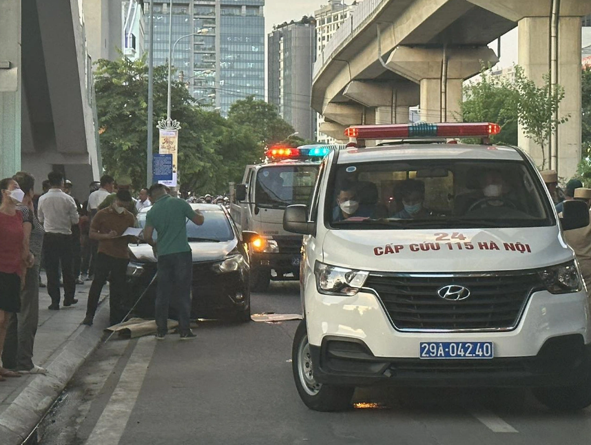
[[[74,299],[76,282],[72,273],[72,235],[46,233],[43,238],[43,260],[45,272],[48,276],[48,293],[52,304],[59,304],[61,293],[59,290],[59,269],[63,276],[63,300]]]

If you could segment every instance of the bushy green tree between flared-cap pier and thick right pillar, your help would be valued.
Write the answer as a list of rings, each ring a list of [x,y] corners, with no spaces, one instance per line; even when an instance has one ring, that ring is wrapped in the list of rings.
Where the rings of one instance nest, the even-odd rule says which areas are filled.
[[[464,87],[462,119],[464,122],[493,122],[501,132],[492,143],[517,145],[517,101],[515,85],[503,76],[492,76],[488,68],[480,73],[477,83]]]

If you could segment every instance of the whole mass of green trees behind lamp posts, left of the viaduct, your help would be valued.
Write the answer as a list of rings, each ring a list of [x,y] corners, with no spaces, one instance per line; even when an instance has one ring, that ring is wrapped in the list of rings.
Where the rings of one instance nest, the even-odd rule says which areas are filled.
[[[145,60],[96,63],[96,107],[103,168],[145,187],[147,166],[147,66]],[[154,123],[166,115],[167,67],[154,67]],[[201,108],[178,81],[172,84],[172,118],[178,132],[180,191],[224,193],[240,182],[245,166],[259,162],[271,141],[293,133],[274,107],[252,97],[232,105],[227,119]],[[158,152],[154,129],[153,152]]]

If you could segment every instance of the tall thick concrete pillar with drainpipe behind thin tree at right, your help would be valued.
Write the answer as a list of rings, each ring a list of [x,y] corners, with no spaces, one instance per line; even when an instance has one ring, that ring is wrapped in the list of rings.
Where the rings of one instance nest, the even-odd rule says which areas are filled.
[[[544,74],[550,72],[549,26],[548,17],[526,17],[519,21],[519,65],[537,85],[542,85]],[[558,173],[568,179],[577,172],[581,160],[581,17],[560,17],[558,39],[558,83],[565,92],[559,117],[570,114],[568,122],[558,127]],[[541,147],[526,138],[521,126],[518,144],[541,168]],[[543,167],[550,168],[548,144]]]

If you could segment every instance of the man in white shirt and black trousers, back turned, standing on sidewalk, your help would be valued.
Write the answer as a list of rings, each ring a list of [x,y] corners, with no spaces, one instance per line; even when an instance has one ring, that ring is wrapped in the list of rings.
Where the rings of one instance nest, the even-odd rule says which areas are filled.
[[[45,229],[43,256],[45,272],[48,276],[48,293],[52,304],[48,309],[59,309],[61,293],[59,290],[59,266],[63,274],[63,305],[71,306],[78,300],[74,298],[76,282],[72,271],[72,225],[78,224],[78,208],[72,196],[65,194],[63,174],[48,174],[50,190],[39,198],[37,216]]]

